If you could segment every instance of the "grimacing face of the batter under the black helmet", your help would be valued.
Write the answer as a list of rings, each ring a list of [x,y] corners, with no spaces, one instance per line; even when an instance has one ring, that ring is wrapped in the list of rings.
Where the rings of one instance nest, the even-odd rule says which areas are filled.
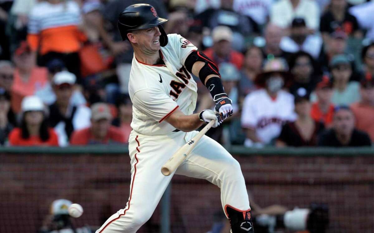
[[[160,50],[160,30],[158,27],[139,30],[135,34],[139,48],[144,54],[152,55]]]

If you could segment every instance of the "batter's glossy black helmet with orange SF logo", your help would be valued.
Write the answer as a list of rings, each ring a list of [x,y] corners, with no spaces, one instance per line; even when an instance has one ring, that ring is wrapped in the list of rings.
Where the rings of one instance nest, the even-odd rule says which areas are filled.
[[[168,21],[168,19],[160,18],[157,15],[156,9],[150,4],[133,4],[123,10],[119,17],[117,26],[121,34],[122,40],[126,40],[127,33],[132,30],[147,29],[158,27],[161,33],[160,45],[165,46],[168,44],[168,36],[161,24]]]

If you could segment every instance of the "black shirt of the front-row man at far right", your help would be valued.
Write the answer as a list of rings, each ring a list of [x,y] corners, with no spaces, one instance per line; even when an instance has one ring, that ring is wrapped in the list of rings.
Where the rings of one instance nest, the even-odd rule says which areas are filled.
[[[319,136],[319,146],[370,146],[371,141],[367,133],[354,129],[348,144],[343,145],[336,137],[334,129],[325,131]]]

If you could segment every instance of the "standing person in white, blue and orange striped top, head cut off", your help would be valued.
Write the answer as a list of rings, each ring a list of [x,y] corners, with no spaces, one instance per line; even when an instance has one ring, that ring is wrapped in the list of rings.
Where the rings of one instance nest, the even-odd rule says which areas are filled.
[[[38,51],[38,63],[45,66],[53,58],[64,61],[66,68],[80,77],[78,51],[87,37],[79,30],[80,7],[73,0],[44,0],[29,14],[27,42]]]

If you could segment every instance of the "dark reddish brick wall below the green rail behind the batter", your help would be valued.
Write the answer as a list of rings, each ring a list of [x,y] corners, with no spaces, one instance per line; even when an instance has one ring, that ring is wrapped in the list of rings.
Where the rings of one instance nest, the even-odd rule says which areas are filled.
[[[234,156],[260,206],[329,206],[329,233],[372,233],[374,157]],[[76,226],[98,226],[124,208],[129,196],[128,155],[0,154],[0,232],[36,232],[58,198],[80,203]],[[149,194],[152,196],[152,194]],[[142,197],[147,198],[147,197]],[[219,189],[197,179],[172,182],[173,233],[203,233],[221,211]],[[159,232],[160,210],[140,233]]]

